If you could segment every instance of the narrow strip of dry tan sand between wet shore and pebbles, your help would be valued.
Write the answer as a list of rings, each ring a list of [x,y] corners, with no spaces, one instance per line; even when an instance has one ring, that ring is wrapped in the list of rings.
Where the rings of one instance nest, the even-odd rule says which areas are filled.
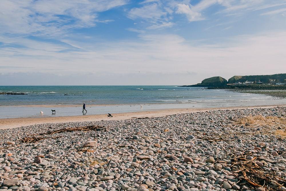
[[[270,108],[285,105],[271,105],[271,106],[255,106],[255,107],[221,107],[221,108],[182,108],[182,109],[162,109],[156,111],[138,111],[128,113],[115,113],[112,118],[107,115],[79,115],[79,116],[65,116],[65,117],[22,117],[0,119],[0,129],[9,129],[16,127],[23,127],[29,125],[37,125],[43,123],[67,123],[67,122],[83,122],[83,121],[101,121],[101,120],[125,120],[143,117],[163,117],[167,115],[174,115],[178,113],[194,113],[199,111],[213,111],[226,109],[246,109],[246,108]]]

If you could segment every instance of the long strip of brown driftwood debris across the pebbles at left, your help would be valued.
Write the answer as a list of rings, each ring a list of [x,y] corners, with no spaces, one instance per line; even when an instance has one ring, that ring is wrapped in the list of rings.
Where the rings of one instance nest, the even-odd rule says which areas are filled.
[[[58,137],[39,137],[42,135],[53,135],[55,133],[63,133],[63,132],[73,132],[73,131],[106,131],[106,128],[104,126],[95,126],[95,125],[90,125],[90,126],[85,126],[85,127],[69,127],[69,128],[63,128],[63,129],[59,129],[59,130],[55,130],[55,131],[48,131],[47,133],[40,133],[36,136],[33,137],[24,137],[23,139],[21,139],[21,141],[23,143],[35,143],[37,141],[41,141],[43,139],[56,139],[59,138],[61,136]]]

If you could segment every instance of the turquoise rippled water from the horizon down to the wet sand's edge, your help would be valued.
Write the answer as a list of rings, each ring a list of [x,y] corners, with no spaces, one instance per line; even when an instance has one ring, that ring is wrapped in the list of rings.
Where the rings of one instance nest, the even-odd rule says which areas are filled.
[[[129,105],[265,100],[269,96],[176,86],[0,86],[0,106],[11,105]]]

